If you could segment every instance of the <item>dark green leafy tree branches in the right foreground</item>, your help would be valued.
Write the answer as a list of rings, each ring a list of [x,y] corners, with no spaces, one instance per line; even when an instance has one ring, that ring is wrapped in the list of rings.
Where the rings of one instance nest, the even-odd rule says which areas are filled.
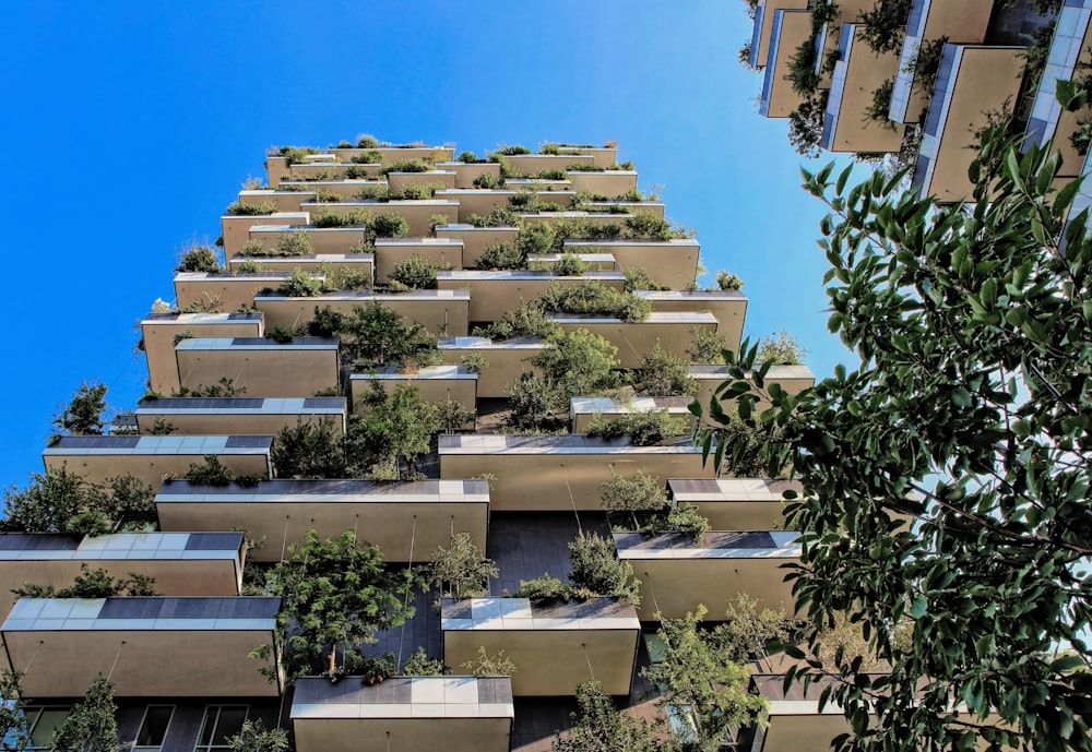
[[[1089,213],[1069,216],[1057,154],[1000,129],[983,150],[968,206],[805,174],[831,211],[828,326],[859,363],[788,395],[747,379],[748,348],[722,390],[803,486],[785,512],[807,530],[791,576],[812,663],[791,678],[843,677],[827,696],[865,752],[1092,749]],[[815,657],[840,612],[882,677]]]

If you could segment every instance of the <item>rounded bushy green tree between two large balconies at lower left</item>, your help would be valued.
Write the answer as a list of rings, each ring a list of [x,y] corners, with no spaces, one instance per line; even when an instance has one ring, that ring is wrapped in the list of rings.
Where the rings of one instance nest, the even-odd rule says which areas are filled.
[[[413,617],[404,592],[407,580],[383,564],[376,546],[358,541],[352,530],[321,540],[308,530],[302,546],[290,546],[288,558],[269,577],[281,597],[276,640],[290,679],[335,675],[359,658],[360,646],[376,642],[376,632]],[[268,658],[272,645],[254,655]]]

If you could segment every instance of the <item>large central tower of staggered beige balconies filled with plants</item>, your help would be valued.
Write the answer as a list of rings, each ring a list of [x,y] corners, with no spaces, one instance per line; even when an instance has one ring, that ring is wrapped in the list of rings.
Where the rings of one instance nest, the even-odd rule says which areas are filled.
[[[776,16],[770,59],[803,4],[760,3],[757,28]],[[824,34],[832,50],[858,44],[852,26]],[[613,144],[454,157],[369,138],[273,152],[268,184],[222,217],[223,261],[182,258],[175,305],[141,324],[149,394],[131,420],[44,452],[55,477],[96,485],[88,499],[135,478],[154,514],[88,520],[85,500],[0,535],[3,589],[24,593],[4,601],[0,640],[27,749],[48,750],[99,677],[136,752],[224,752],[247,719],[289,730],[299,752],[546,750],[592,679],[686,735],[687,708],[660,706],[642,676],[662,657],[661,620],[703,605],[723,621],[739,594],[792,605],[786,481],[716,477],[689,437],[687,405],[708,404],[726,373],[716,355],[739,347],[738,280],[698,288],[698,239]],[[814,379],[783,363],[765,381],[796,392]],[[627,497],[618,479],[643,490]],[[278,592],[266,575],[310,530],[351,532],[389,571],[450,566],[397,592],[415,612],[364,646],[370,658],[311,645],[332,649],[312,671],[325,676],[296,677],[284,634],[341,614],[286,611],[305,586]],[[570,544],[592,536],[607,553],[589,561],[628,563],[639,605],[573,572]],[[480,587],[474,547],[496,564]],[[308,565],[304,577],[328,574]],[[152,577],[156,595],[61,597],[81,566]],[[423,655],[452,672],[401,676]],[[779,666],[752,677],[774,701],[769,726],[733,733],[748,750],[826,749],[840,716],[819,713],[815,688],[784,695]]]

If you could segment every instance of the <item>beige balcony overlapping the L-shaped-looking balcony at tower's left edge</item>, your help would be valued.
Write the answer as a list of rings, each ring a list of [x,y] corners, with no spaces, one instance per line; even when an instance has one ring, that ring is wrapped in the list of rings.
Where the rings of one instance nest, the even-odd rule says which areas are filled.
[[[175,346],[181,385],[191,390],[230,379],[248,397],[309,397],[337,386],[337,339],[266,337],[182,339]]]

